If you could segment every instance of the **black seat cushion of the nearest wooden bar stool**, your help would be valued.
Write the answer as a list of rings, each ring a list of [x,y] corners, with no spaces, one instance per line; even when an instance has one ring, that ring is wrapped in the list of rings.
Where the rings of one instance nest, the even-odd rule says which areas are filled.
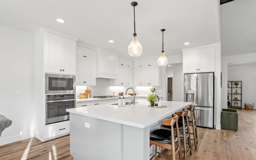
[[[160,142],[160,143],[168,143],[171,144],[171,131],[170,130],[165,130],[165,129],[158,129],[154,130],[153,132],[150,133],[150,140],[155,141],[155,142]],[[175,135],[174,141],[178,141],[178,137]]]

